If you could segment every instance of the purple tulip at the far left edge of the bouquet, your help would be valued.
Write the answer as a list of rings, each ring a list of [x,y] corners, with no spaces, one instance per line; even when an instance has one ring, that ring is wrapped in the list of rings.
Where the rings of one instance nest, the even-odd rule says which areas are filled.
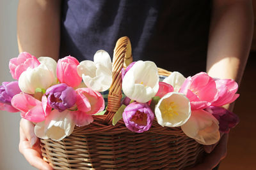
[[[3,82],[0,86],[0,102],[12,105],[12,97],[20,92],[18,81]]]

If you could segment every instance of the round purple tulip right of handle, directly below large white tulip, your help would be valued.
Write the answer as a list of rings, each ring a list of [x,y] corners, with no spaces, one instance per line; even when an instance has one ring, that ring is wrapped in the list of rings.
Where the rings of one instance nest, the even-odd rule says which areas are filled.
[[[125,108],[123,113],[126,127],[130,131],[137,133],[148,131],[154,117],[155,115],[147,103],[131,103]]]

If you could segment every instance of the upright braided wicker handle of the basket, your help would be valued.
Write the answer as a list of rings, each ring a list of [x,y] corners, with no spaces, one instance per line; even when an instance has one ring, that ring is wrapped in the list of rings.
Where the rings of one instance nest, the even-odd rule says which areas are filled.
[[[113,55],[112,83],[108,94],[107,116],[104,123],[111,124],[113,116],[120,108],[122,99],[121,70],[132,62],[131,42],[127,36],[119,38],[116,42]]]

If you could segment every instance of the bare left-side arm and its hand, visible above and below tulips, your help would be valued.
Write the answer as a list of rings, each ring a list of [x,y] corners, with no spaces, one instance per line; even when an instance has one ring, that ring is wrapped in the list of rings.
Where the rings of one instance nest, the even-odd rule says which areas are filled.
[[[19,52],[58,60],[60,15],[60,0],[20,0],[17,10]],[[20,120],[19,151],[31,166],[50,170],[52,167],[42,159],[40,141],[35,136],[34,126],[28,120]]]

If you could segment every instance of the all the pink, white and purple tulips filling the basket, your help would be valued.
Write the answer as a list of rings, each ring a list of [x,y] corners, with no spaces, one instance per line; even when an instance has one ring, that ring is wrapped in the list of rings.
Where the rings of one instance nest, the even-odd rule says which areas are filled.
[[[111,58],[104,50],[93,61],[79,62],[67,56],[58,62],[22,52],[10,60],[10,72],[17,81],[3,82],[0,109],[21,111],[22,118],[35,123],[39,138],[54,141],[69,136],[74,127],[89,125],[93,115],[106,110],[100,92],[112,81]],[[83,80],[83,81],[82,81]],[[219,141],[239,122],[238,117],[221,107],[237,99],[234,80],[211,78],[198,73],[185,78],[179,72],[159,77],[151,61],[132,62],[122,69],[124,99],[113,117],[121,118],[132,132],[150,130],[156,117],[163,127],[181,127],[184,134],[203,145]]]

